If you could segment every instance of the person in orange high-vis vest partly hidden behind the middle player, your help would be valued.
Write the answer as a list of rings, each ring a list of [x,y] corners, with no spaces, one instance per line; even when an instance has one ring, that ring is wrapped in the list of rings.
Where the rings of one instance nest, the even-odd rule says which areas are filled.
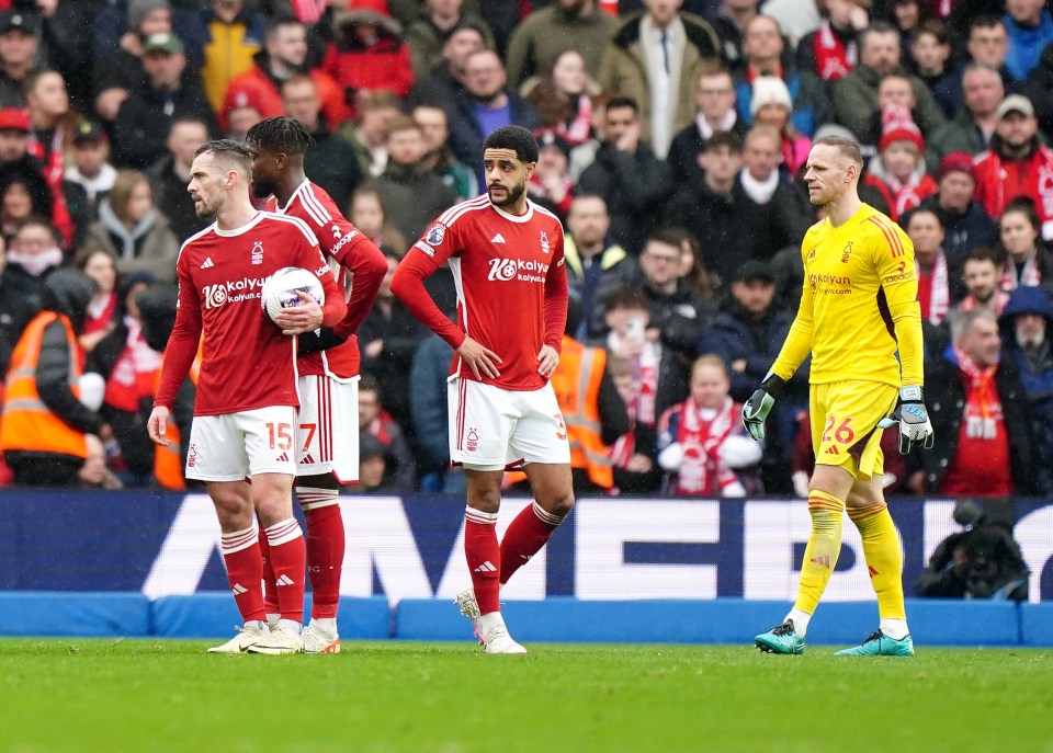
[[[604,438],[613,442],[629,431],[629,417],[607,372],[607,352],[565,334],[559,365],[551,383],[570,443],[575,490],[610,492],[614,478]],[[509,472],[505,486],[525,479],[522,471]]]

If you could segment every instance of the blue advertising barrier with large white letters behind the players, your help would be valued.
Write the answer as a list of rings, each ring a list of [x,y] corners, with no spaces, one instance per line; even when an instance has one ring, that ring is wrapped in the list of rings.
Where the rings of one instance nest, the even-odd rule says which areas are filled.
[[[499,534],[528,500],[507,500]],[[238,621],[219,529],[201,493],[0,491],[0,635],[229,635]],[[469,582],[463,499],[341,498],[347,638],[460,640],[451,606]],[[958,530],[954,502],[891,502],[910,595]],[[919,642],[1053,646],[1053,503],[1018,500],[1030,604],[912,600]],[[796,593],[809,529],[801,500],[582,499],[502,591],[522,640],[748,641]],[[819,618],[822,617],[822,618]],[[809,642],[849,643],[876,624],[854,527]]]

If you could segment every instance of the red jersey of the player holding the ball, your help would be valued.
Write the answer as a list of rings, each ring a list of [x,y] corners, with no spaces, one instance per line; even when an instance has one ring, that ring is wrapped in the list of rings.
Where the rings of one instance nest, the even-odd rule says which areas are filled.
[[[295,340],[282,334],[260,305],[264,281],[284,266],[314,272],[327,303],[340,297],[315,233],[298,219],[261,212],[240,228],[220,230],[213,224],[183,243],[169,350],[193,354],[204,333],[194,415],[299,406]],[[172,407],[185,376],[173,363],[180,361],[165,360],[155,404]]]

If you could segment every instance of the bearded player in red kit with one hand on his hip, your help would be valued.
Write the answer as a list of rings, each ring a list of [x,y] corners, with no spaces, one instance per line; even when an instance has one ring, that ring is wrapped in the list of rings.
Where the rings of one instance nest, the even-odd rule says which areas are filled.
[[[508,632],[500,585],[533,557],[574,506],[570,447],[548,378],[567,319],[563,226],[526,198],[537,141],[503,126],[483,147],[487,195],[440,215],[398,265],[392,292],[454,349],[450,457],[467,482],[464,550],[472,589],[457,595],[487,653],[525,653]],[[449,262],[457,288],[451,323],[423,281]],[[522,467],[534,503],[497,541],[506,468]]]

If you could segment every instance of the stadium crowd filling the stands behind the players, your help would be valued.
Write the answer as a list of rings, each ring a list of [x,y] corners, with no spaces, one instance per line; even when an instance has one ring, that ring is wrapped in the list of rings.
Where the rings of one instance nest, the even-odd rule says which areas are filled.
[[[181,488],[146,420],[176,259],[207,224],[190,164],[281,114],[388,261],[358,334],[358,490],[463,489],[452,352],[389,283],[514,124],[567,230],[554,385],[579,490],[806,494],[806,369],[766,446],[738,417],[805,283],[812,141],[847,135],[919,261],[937,445],[901,457],[887,432],[886,489],[1053,493],[1043,0],[0,0],[3,483]],[[455,316],[452,279],[429,285]],[[192,380],[181,402],[188,425]]]

